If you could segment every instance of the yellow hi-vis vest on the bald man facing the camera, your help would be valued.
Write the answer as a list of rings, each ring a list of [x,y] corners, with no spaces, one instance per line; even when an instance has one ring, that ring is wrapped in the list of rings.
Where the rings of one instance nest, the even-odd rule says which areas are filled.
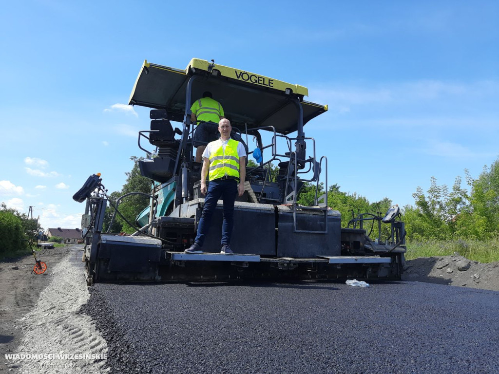
[[[238,141],[229,139],[224,152],[222,141],[217,140],[217,145],[220,147],[210,154],[210,173],[208,175],[210,181],[224,176],[235,177],[239,180],[238,144]]]

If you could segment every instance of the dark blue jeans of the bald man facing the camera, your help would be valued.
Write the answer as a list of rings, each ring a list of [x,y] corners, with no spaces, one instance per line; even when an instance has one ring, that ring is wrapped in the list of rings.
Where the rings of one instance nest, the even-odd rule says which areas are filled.
[[[235,179],[210,181],[206,192],[205,205],[198,224],[198,234],[194,240],[196,243],[203,246],[206,234],[210,229],[213,212],[217,207],[217,201],[222,197],[224,201],[224,223],[222,224],[221,244],[230,244],[234,226],[234,201],[236,201],[237,194],[238,182]]]

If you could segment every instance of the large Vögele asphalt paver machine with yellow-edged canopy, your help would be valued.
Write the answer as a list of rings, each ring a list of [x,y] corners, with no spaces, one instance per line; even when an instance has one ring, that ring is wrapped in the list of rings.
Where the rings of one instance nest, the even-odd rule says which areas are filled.
[[[195,162],[191,105],[210,91],[254,160],[246,169],[245,193],[235,203],[231,247],[220,251],[222,201],[212,218],[202,254],[186,254],[194,241],[204,198],[201,163]],[[235,278],[400,279],[405,249],[398,206],[385,216],[359,215],[341,227],[327,205],[327,159],[315,154],[304,126],[327,106],[304,100],[306,87],[201,59],[185,69],[142,65],[129,104],[151,108],[149,130],[140,131],[142,176],[152,182],[150,204],[136,220],[137,232],[102,231],[108,204],[100,174],[73,196],[86,201],[82,216],[87,283],[213,281]],[[315,186],[312,206],[297,203],[304,183]],[[327,189],[327,188],[326,188]],[[119,210],[119,209],[118,209]],[[119,214],[119,211],[118,211]],[[371,219],[389,225],[385,240],[366,235]],[[357,223],[360,227],[357,227]]]

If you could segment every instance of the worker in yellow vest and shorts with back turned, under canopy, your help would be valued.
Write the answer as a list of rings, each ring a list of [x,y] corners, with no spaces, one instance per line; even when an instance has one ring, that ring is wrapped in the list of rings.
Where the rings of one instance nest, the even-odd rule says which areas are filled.
[[[209,142],[218,139],[217,128],[221,119],[225,118],[224,108],[217,100],[213,99],[210,91],[205,91],[201,99],[196,100],[191,106],[191,122],[198,124],[194,132],[194,146],[196,150],[196,162],[202,161],[203,152]]]

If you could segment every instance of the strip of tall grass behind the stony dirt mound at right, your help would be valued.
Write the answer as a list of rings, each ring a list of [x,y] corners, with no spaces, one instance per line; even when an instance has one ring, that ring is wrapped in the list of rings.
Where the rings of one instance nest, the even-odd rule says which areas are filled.
[[[407,244],[406,259],[450,256],[455,252],[473,261],[499,261],[499,237],[490,240],[421,241]]]

